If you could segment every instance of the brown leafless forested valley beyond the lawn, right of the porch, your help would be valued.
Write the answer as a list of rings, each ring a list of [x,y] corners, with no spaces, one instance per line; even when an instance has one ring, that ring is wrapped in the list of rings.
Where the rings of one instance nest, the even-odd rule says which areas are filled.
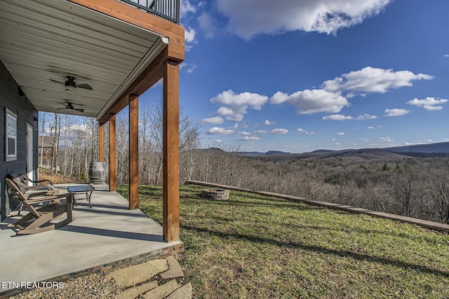
[[[246,158],[208,149],[198,155],[195,180],[448,223],[446,157],[414,158],[383,150]]]

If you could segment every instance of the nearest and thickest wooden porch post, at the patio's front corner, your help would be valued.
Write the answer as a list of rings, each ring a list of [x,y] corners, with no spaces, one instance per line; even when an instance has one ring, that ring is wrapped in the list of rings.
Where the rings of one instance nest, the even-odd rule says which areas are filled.
[[[163,239],[180,239],[179,77],[176,62],[163,62]]]

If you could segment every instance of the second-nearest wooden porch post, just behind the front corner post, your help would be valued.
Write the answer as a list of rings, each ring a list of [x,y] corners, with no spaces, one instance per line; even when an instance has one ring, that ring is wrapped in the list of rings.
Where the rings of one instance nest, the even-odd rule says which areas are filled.
[[[139,207],[139,97],[129,96],[129,209]]]

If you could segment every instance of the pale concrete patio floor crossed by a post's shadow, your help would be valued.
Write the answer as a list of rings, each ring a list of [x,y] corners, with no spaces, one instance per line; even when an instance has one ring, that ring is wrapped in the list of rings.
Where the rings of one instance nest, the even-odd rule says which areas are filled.
[[[55,187],[62,193],[70,185]],[[75,221],[57,230],[16,236],[8,223],[18,217],[0,223],[0,296],[11,292],[13,283],[62,281],[183,250],[180,241],[164,241],[161,225],[140,209],[128,210],[128,200],[119,193],[94,186],[93,207],[85,195],[75,195],[84,196],[76,201]]]

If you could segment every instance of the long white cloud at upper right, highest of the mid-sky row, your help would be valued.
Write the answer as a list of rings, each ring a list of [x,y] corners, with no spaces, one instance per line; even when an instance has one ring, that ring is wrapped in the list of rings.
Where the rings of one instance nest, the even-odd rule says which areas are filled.
[[[434,78],[427,74],[413,74],[411,71],[393,71],[393,69],[378,69],[364,67],[351,71],[333,80],[324,81],[321,87],[329,92],[348,91],[347,97],[364,92],[385,93],[394,88],[412,86],[415,80],[430,80]]]

